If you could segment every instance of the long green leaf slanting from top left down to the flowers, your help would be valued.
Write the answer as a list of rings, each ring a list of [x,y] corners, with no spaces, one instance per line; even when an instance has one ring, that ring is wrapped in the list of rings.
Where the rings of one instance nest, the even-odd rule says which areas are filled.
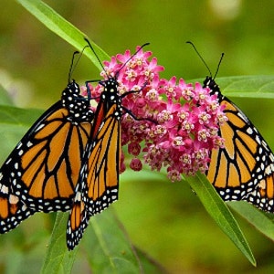
[[[26,10],[33,16],[47,26],[52,32],[63,38],[73,47],[81,51],[87,46],[84,37],[87,37],[77,27],[70,24],[65,18],[59,16],[58,13],[50,6],[39,0],[16,0],[19,4],[23,5]],[[89,39],[90,40],[90,39]],[[90,44],[94,48],[100,60],[107,60],[110,57],[100,47],[90,40]],[[100,63],[91,50],[84,50],[85,54],[101,70]]]

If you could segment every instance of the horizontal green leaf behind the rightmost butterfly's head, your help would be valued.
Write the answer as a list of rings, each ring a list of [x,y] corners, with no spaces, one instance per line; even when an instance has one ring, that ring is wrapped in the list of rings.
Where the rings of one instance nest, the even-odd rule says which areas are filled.
[[[202,83],[205,79],[193,79]],[[252,75],[217,78],[221,92],[230,97],[274,99],[274,76]]]

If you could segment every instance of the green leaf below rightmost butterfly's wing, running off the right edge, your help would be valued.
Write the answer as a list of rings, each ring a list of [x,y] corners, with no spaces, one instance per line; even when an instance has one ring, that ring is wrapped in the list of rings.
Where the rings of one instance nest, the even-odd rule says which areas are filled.
[[[227,204],[233,208],[237,214],[248,220],[248,222],[258,229],[258,231],[274,241],[274,222],[269,214],[258,210],[254,205],[250,205],[245,201],[237,203],[229,202]]]

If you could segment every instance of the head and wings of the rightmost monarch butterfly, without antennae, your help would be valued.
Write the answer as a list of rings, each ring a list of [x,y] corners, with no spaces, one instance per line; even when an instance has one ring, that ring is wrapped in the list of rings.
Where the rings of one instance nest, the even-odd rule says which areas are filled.
[[[246,200],[274,212],[274,155],[268,143],[248,117],[221,94],[214,79],[206,78],[204,85],[217,94],[228,118],[219,130],[225,147],[212,151],[208,180],[225,201]]]

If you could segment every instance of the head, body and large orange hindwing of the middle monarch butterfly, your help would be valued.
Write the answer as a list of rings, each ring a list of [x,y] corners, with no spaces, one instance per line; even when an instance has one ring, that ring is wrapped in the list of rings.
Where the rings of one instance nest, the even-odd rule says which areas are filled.
[[[121,151],[121,97],[115,78],[101,81],[104,91],[94,116],[92,142],[85,151],[85,172],[80,174],[90,216],[118,199]]]

